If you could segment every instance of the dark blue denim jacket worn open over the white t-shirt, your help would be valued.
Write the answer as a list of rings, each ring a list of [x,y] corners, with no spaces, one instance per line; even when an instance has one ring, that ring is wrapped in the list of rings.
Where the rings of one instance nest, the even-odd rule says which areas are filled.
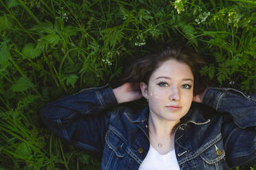
[[[211,107],[210,107],[211,106]],[[41,119],[81,149],[100,152],[100,169],[138,169],[149,151],[149,107],[118,106],[108,86],[87,88],[46,104]],[[230,169],[256,163],[256,95],[209,88],[175,130],[180,169]]]

